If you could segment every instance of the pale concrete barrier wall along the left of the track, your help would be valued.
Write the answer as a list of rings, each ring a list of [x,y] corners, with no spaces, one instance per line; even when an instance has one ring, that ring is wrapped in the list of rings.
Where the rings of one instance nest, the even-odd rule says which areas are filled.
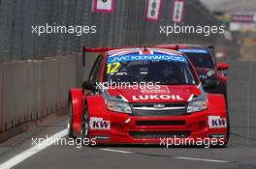
[[[0,131],[67,107],[69,89],[79,81],[77,60],[69,56],[0,63]]]

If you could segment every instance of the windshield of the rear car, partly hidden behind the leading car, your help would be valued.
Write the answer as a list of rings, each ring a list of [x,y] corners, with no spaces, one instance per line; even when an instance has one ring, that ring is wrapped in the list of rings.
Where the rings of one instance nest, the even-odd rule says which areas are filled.
[[[185,53],[196,68],[208,68],[213,67],[212,57],[207,49],[179,49],[179,51]]]

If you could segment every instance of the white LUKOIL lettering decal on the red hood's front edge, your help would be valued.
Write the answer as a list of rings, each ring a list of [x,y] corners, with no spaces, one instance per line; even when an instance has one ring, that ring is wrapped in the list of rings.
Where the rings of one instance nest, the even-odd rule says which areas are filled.
[[[140,95],[133,96],[133,100],[159,100],[159,99],[173,99],[173,100],[183,100],[179,95]]]

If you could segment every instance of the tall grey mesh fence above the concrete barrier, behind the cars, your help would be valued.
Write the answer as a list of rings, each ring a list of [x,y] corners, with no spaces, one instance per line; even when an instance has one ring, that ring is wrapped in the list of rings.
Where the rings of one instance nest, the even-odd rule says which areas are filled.
[[[214,37],[176,34],[166,37],[160,25],[173,25],[173,1],[162,0],[161,18],[146,21],[145,0],[116,0],[113,14],[92,13],[92,0],[0,0],[0,61],[43,59],[80,52],[80,46],[124,46],[164,42],[208,42]],[[96,25],[97,33],[32,34],[34,25]],[[185,1],[184,24],[213,25],[217,20],[199,0]]]

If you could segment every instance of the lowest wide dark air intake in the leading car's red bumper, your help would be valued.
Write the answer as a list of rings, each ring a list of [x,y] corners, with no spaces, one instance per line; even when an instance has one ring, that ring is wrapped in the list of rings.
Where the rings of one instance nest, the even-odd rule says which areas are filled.
[[[189,137],[191,131],[130,131],[133,138],[138,139],[154,139],[154,138],[186,138]]]

